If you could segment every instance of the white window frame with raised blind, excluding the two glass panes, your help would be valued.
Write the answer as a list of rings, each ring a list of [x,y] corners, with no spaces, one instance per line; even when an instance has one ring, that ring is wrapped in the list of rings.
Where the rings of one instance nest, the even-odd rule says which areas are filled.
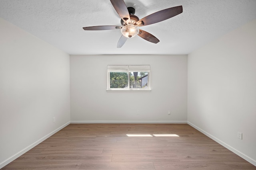
[[[150,65],[108,65],[107,91],[108,92],[149,92],[150,89]],[[110,72],[127,72],[128,88],[110,88]],[[129,72],[148,72],[148,88],[130,88]]]

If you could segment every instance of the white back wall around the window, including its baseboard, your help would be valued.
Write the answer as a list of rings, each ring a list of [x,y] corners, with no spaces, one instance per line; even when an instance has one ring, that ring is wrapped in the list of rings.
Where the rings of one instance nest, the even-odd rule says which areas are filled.
[[[106,92],[108,64],[150,64],[152,91]],[[187,55],[71,55],[70,107],[72,123],[186,123]]]

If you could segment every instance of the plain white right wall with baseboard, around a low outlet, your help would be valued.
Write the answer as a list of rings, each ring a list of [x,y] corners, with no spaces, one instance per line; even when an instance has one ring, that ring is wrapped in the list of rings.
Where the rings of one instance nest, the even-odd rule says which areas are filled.
[[[256,166],[256,20],[188,55],[188,123]]]

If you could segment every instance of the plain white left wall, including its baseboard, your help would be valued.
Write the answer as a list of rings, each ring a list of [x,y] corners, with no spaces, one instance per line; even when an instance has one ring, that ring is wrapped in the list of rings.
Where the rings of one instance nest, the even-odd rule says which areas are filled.
[[[70,79],[68,54],[2,18],[0,28],[1,168],[70,122]]]

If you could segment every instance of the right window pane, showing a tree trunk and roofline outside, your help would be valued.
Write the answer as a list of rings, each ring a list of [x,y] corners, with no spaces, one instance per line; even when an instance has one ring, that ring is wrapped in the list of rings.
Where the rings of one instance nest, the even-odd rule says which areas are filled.
[[[148,72],[129,72],[130,88],[148,88]]]

